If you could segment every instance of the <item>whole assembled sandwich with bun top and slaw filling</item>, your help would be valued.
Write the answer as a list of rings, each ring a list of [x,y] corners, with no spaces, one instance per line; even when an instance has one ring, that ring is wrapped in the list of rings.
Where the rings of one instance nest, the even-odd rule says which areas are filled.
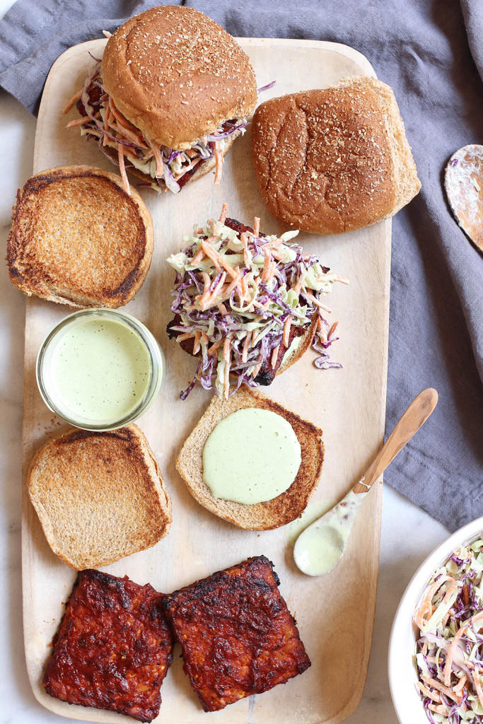
[[[92,59],[77,101],[83,134],[125,170],[177,193],[216,167],[256,105],[248,56],[190,7],[154,7],[127,20]]]

